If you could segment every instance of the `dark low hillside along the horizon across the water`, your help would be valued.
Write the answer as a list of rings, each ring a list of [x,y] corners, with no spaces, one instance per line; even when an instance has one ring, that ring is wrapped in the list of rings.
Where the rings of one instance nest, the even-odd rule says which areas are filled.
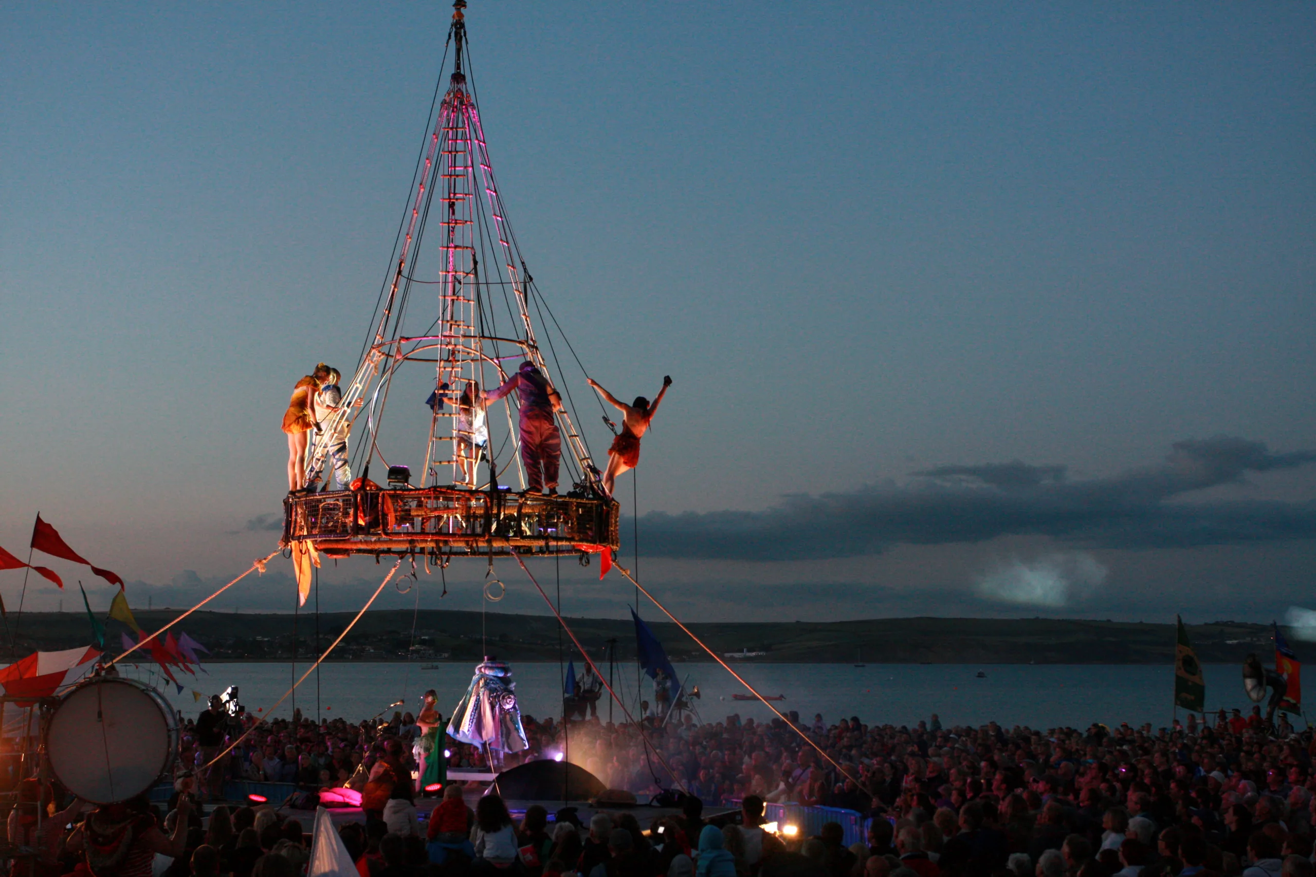
[[[138,611],[146,630],[158,630],[179,610]],[[320,644],[337,636],[351,613],[320,615]],[[633,660],[634,627],[629,621],[570,618],[571,628],[591,653],[601,656],[611,638],[617,659]],[[9,630],[16,618],[9,615]],[[296,625],[297,655],[315,652],[315,615],[199,611],[180,627],[204,643],[215,659],[287,660]],[[558,627],[550,615],[484,618],[488,651],[507,660],[557,660]],[[675,625],[651,623],[672,660],[700,660],[701,651]],[[1067,621],[1046,618],[874,618],[846,622],[696,623],[691,628],[711,648],[722,652],[762,651],[757,661],[873,664],[1165,664],[1174,660],[1173,625]],[[120,643],[118,622],[111,622],[109,646]],[[1270,627],[1241,622],[1192,625],[1188,635],[1204,663],[1241,663],[1248,652],[1267,657]],[[91,628],[75,613],[25,613],[18,653],[86,646]],[[480,656],[480,614],[424,610],[416,621],[415,655],[421,659],[471,661]],[[336,660],[397,660],[412,644],[412,613],[366,613],[334,651]],[[570,648],[570,640],[566,640]],[[5,640],[3,646],[8,647]]]

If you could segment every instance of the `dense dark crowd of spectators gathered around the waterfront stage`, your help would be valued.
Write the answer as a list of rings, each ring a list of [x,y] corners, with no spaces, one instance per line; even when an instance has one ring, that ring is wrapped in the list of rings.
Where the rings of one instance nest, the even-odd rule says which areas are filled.
[[[220,764],[232,777],[308,789],[391,765],[405,805],[393,817],[401,817],[367,810],[362,824],[341,830],[359,877],[1316,877],[1316,744],[1311,731],[1283,721],[1270,728],[1257,714],[1221,713],[1209,724],[1192,717],[1159,730],[1048,731],[942,727],[937,717],[913,727],[791,714],[790,722],[591,719],[566,728],[525,718],[522,759],[562,753],[641,799],[686,789],[682,817],[646,826],[626,810],[583,826],[542,807],[513,819],[496,795],[471,809],[463,792],[474,799],[475,788],[461,782],[449,782],[442,799],[418,798],[404,780],[416,738],[409,719],[275,721]],[[268,807],[203,810],[200,769],[213,740],[196,736],[195,724],[184,727],[167,806],[139,799],[91,817],[137,826],[139,843],[170,860],[167,877],[296,877],[309,840],[296,819]],[[450,748],[450,769],[484,767],[474,748]],[[104,839],[92,818],[82,822],[86,805],[32,781],[18,793],[8,836],[38,855],[16,864],[16,877],[151,873],[124,863],[91,868],[88,851]],[[837,823],[813,838],[772,835],[761,827],[765,802],[857,811],[869,820],[867,843],[845,847]],[[38,806],[64,809],[38,832]],[[708,823],[705,806],[715,813]],[[716,815],[726,807],[740,818]]]

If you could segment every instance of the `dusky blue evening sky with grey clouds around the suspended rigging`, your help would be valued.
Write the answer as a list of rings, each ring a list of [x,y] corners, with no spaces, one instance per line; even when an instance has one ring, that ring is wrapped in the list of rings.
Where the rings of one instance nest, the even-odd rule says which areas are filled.
[[[25,559],[41,511],[136,606],[275,548],[280,418],[317,360],[355,367],[449,18],[0,7],[0,546]],[[641,577],[674,611],[1316,609],[1316,5],[467,22],[503,199],[584,367],[625,398],[675,381],[637,475]],[[628,475],[628,564],[633,498]],[[46,563],[66,610],[79,577],[108,605]],[[596,569],[563,560],[563,609],[624,614]],[[383,572],[326,568],[321,605]],[[291,611],[290,573],[216,605]],[[478,607],[482,561],[450,573],[420,605]],[[544,611],[496,575],[497,610]],[[0,572],[11,613],[21,584]],[[29,581],[26,606],[58,600]]]

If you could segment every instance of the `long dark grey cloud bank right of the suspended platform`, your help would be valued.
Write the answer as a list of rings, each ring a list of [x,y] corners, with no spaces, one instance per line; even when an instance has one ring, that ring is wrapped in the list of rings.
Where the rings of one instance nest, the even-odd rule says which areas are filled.
[[[1316,538],[1316,502],[1175,502],[1291,469],[1316,451],[1273,454],[1233,437],[1177,442],[1158,465],[1070,481],[1065,467],[1024,463],[940,467],[908,484],[791,494],[766,511],[644,517],[646,554],[669,557],[804,560],[880,554],[895,544],[1041,535],[1103,548],[1186,548]]]

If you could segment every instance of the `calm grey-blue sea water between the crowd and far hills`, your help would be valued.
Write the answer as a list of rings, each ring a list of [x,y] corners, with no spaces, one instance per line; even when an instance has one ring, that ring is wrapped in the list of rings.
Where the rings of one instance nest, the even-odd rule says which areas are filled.
[[[909,724],[928,719],[933,713],[944,726],[983,724],[990,721],[1007,727],[1026,724],[1033,728],[1070,726],[1086,728],[1092,722],[1117,724],[1150,722],[1154,727],[1173,721],[1174,668],[1144,664],[761,664],[733,661],[732,668],[765,696],[784,694],[775,702],[783,713],[796,710],[801,719],[813,721],[821,713],[828,723],[842,717],[858,715],[866,723]],[[208,672],[196,677],[180,675],[183,690],[161,680],[158,673],[129,668],[126,676],[153,681],[168,699],[195,717],[205,707],[205,697],[237,685],[240,701],[258,715],[287,717],[293,705],[304,715],[345,718],[359,722],[380,711],[416,713],[426,689],[438,694],[441,713],[450,715],[471,681],[474,665],[453,661],[407,663],[325,663],[312,672],[292,697],[275,706],[296,678],[309,668],[307,663],[212,663]],[[430,667],[432,669],[424,669]],[[757,701],[733,699],[734,693],[747,693],[717,664],[676,664],[688,689],[699,686],[694,701],[705,722],[720,722],[728,715],[771,719],[772,713]],[[580,661],[575,663],[583,671]],[[608,667],[601,667],[604,675]],[[516,693],[522,714],[542,718],[561,715],[562,669],[557,663],[512,664]],[[174,671],[179,675],[179,671]],[[979,678],[978,673],[984,677]],[[613,688],[628,706],[636,701],[637,672],[634,664],[619,663],[613,671]],[[1217,710],[1240,707],[1246,714],[1252,702],[1242,690],[1241,668],[1233,664],[1205,667],[1207,707]],[[653,682],[638,686],[645,699],[653,699]],[[197,697],[200,694],[201,697]],[[599,701],[599,714],[608,721],[608,696]],[[390,707],[395,701],[404,706]],[[1179,711],[1183,717],[1183,711]],[[613,707],[612,718],[625,715]]]

